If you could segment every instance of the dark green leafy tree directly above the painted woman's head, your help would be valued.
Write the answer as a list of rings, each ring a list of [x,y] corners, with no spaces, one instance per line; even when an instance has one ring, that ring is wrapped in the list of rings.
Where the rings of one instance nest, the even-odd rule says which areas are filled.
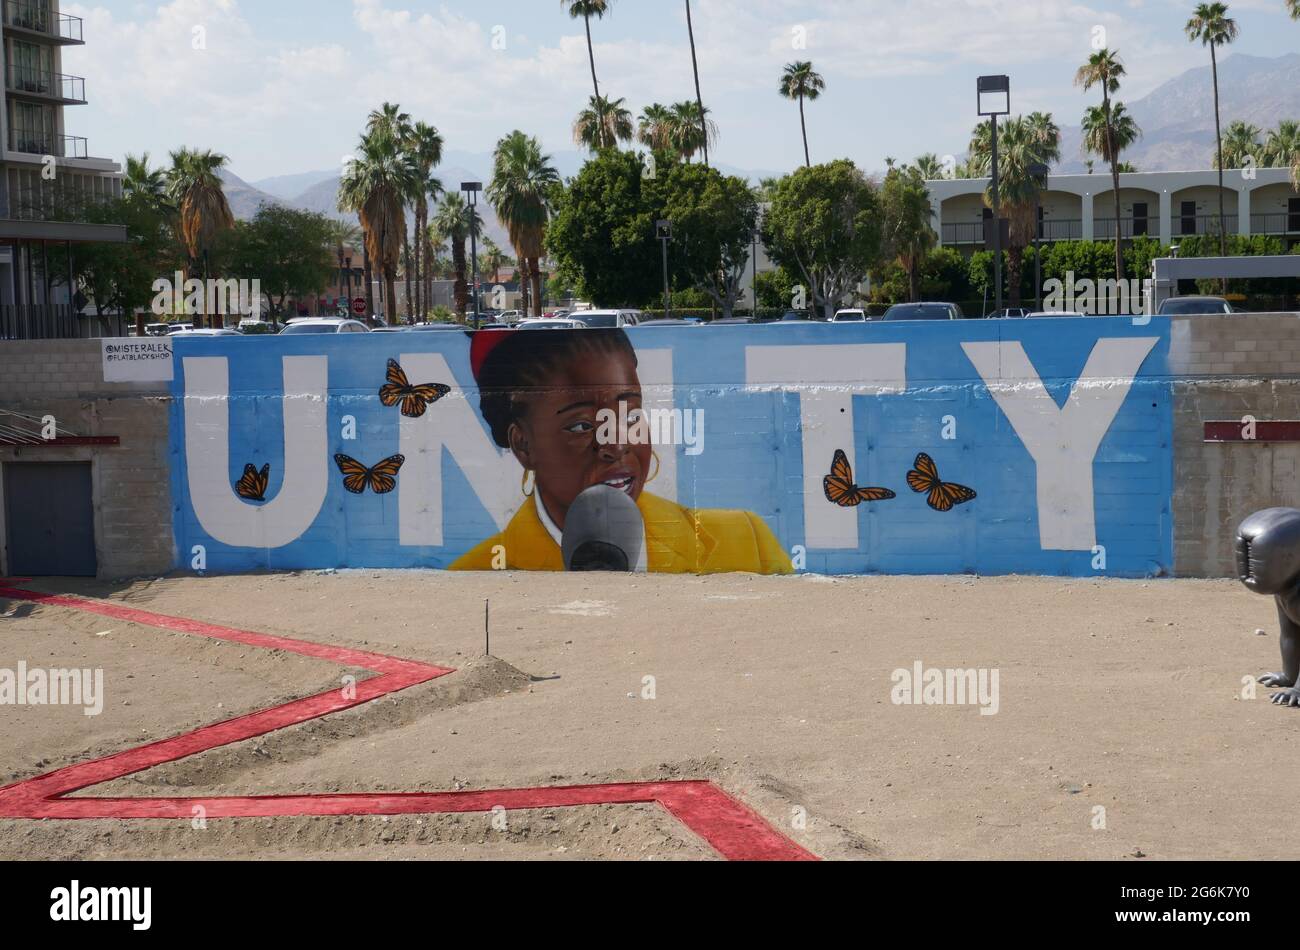
[[[671,165],[663,155],[660,166]],[[642,304],[662,291],[654,195],[641,159],[604,151],[560,190],[546,247],[564,279],[602,307]]]

